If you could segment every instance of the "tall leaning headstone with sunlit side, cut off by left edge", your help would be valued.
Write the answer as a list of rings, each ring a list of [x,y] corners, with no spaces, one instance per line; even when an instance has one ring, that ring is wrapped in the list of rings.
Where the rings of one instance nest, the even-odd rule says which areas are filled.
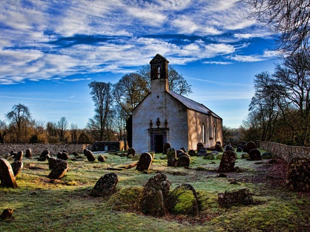
[[[17,188],[12,167],[10,163],[3,158],[0,159],[0,181],[1,186]]]

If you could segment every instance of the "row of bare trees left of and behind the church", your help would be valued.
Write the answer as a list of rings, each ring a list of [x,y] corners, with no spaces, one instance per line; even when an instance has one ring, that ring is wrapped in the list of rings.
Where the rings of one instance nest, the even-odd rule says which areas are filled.
[[[94,141],[126,141],[126,120],[131,111],[150,92],[151,67],[145,65],[129,73],[115,84],[93,81],[88,84],[94,102],[94,116],[84,129],[69,124],[66,117],[46,122],[32,117],[29,107],[14,104],[0,120],[0,143],[72,143],[91,144]],[[173,66],[168,69],[169,89],[181,95],[191,93],[191,86]]]

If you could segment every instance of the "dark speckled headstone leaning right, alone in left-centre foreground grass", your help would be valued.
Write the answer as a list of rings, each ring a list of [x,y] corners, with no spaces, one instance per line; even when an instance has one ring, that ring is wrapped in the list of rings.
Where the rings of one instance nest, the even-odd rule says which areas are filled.
[[[114,172],[104,174],[96,182],[94,188],[91,190],[93,196],[108,196],[114,193],[118,183],[118,176]]]

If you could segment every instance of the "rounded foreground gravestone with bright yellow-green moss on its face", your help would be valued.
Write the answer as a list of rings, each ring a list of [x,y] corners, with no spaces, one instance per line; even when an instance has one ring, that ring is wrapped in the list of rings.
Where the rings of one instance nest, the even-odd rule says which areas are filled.
[[[182,184],[171,191],[166,199],[168,210],[172,214],[197,217],[198,201],[196,191],[190,184]]]

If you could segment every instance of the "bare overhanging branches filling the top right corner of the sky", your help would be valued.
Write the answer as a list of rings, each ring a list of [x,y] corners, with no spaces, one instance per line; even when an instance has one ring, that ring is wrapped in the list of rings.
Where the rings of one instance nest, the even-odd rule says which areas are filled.
[[[310,3],[305,0],[240,0],[251,12],[246,16],[267,27],[284,56],[309,51]]]

